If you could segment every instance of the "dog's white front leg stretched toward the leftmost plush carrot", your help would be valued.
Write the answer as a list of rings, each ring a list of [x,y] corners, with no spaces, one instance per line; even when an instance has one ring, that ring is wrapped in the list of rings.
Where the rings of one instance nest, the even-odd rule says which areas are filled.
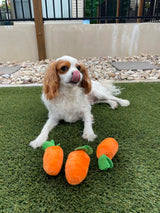
[[[30,146],[36,149],[37,147],[42,146],[42,144],[47,140],[49,132],[58,124],[58,121],[49,118],[44,125],[40,135],[34,140],[30,142]]]

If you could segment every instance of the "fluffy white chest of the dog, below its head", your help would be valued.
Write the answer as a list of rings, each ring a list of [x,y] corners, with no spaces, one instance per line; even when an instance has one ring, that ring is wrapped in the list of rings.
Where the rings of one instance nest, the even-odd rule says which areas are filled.
[[[49,113],[58,120],[65,120],[66,122],[83,119],[84,112],[91,107],[87,96],[79,87],[60,90],[59,95],[50,101],[42,95],[42,100]]]

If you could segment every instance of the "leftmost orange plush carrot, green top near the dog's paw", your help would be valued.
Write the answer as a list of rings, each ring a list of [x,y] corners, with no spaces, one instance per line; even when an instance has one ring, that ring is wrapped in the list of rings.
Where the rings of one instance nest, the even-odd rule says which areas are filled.
[[[45,153],[43,155],[43,169],[48,175],[56,176],[61,171],[63,164],[63,150],[53,140],[46,141],[42,145]]]

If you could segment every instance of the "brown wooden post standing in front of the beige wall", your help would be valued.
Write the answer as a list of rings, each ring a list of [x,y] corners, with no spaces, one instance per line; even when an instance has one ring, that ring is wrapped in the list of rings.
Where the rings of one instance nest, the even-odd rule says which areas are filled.
[[[46,48],[45,48],[41,0],[38,0],[38,1],[33,0],[33,9],[34,9],[34,21],[35,21],[36,36],[37,36],[38,56],[39,56],[39,60],[43,60],[43,59],[46,59]]]

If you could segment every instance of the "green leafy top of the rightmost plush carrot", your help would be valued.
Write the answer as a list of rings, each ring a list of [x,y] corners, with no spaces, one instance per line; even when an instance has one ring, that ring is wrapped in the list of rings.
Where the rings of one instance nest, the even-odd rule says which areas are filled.
[[[106,155],[101,155],[98,159],[98,166],[100,170],[107,170],[113,167],[113,162]]]

